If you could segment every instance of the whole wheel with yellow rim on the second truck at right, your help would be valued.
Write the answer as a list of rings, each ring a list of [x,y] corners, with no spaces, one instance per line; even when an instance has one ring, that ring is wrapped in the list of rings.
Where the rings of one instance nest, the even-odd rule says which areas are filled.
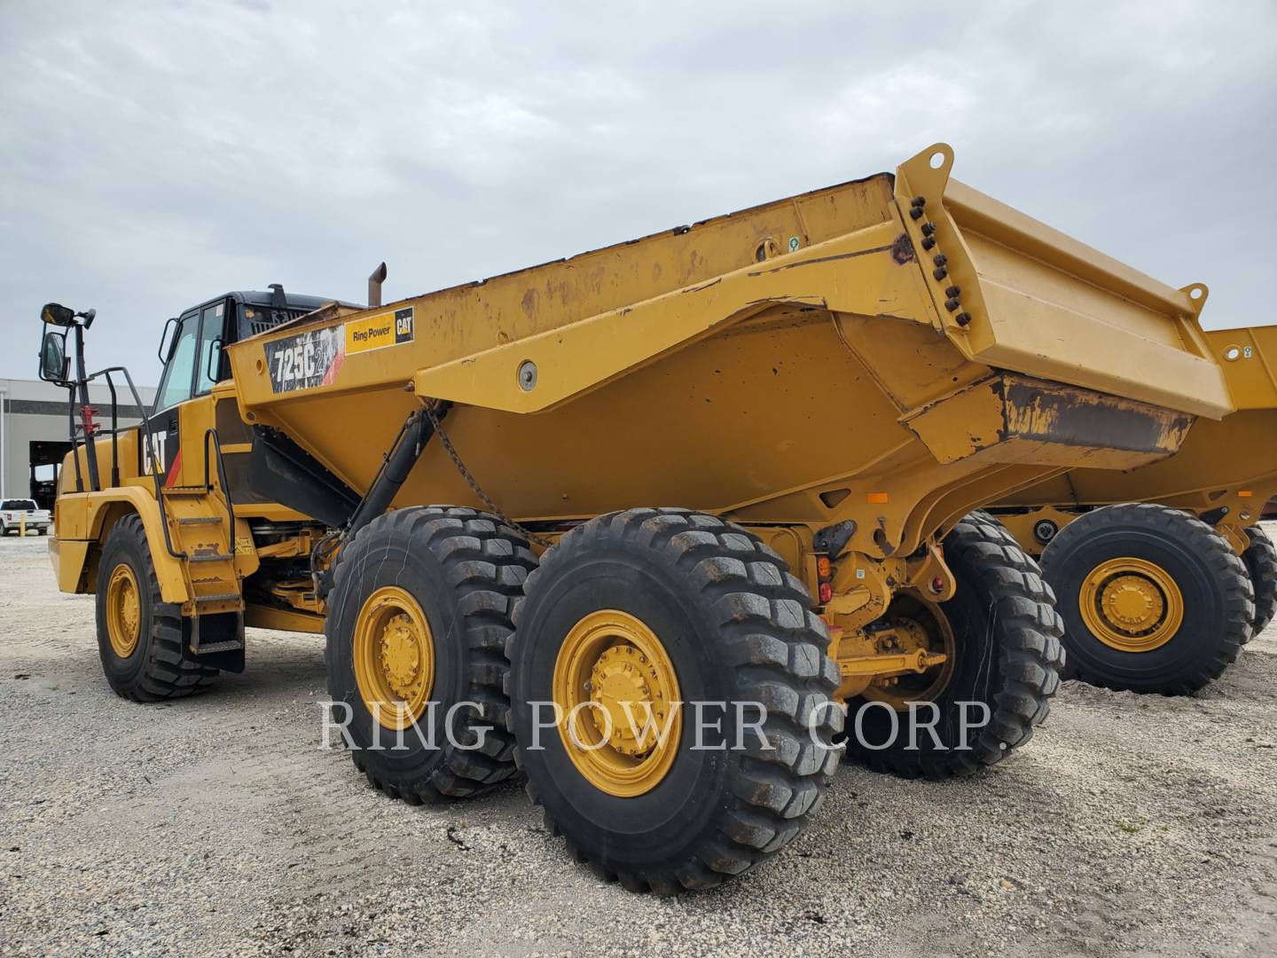
[[[1042,553],[1059,597],[1066,678],[1186,695],[1217,678],[1250,637],[1250,577],[1202,520],[1149,503],[1105,506]]]

